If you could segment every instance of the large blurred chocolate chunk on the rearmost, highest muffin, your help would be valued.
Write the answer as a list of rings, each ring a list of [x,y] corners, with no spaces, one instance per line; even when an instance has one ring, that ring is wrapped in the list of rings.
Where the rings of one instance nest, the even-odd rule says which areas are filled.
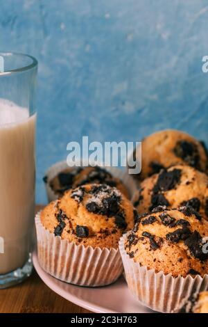
[[[200,157],[195,144],[185,140],[178,141],[173,152],[177,157],[187,162],[189,166],[199,168]]]

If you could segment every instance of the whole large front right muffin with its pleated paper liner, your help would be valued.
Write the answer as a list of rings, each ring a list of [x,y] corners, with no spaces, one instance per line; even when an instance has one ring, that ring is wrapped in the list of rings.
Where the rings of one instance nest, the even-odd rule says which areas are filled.
[[[191,207],[157,207],[139,216],[119,244],[130,292],[171,312],[196,288],[208,287],[208,223]]]

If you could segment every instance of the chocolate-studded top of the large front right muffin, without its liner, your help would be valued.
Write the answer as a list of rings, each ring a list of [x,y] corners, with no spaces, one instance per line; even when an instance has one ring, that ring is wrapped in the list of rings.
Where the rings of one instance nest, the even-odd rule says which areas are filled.
[[[191,207],[157,207],[140,216],[125,241],[135,262],[173,277],[208,273],[208,223]]]

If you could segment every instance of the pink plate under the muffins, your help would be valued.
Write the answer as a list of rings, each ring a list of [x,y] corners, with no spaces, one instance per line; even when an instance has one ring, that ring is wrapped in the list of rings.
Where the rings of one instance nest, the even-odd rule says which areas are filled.
[[[46,273],[33,253],[33,264],[43,282],[68,301],[92,312],[99,313],[145,313],[153,312],[133,298],[123,277],[105,287],[80,287],[62,282]]]

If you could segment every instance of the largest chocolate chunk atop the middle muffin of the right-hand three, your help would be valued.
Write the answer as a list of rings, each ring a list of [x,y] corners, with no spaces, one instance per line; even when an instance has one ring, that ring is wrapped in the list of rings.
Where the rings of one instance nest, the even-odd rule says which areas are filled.
[[[174,189],[175,185],[180,182],[181,169],[173,169],[168,171],[166,169],[162,170],[157,178],[157,183],[153,189],[153,193],[158,193],[159,191],[169,191]]]

